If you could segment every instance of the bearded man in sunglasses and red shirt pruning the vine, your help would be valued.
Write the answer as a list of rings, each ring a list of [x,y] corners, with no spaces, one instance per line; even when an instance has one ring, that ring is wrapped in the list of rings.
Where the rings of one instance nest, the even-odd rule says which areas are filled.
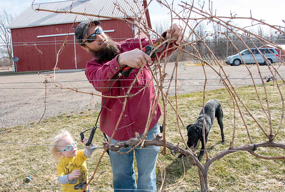
[[[125,96],[130,84],[137,76],[139,69],[148,59],[148,54],[140,50],[139,39],[132,38],[123,42],[114,42],[107,36],[99,26],[99,21],[81,22],[76,30],[75,37],[79,45],[86,51],[92,53],[94,58],[87,62],[85,74],[95,90],[106,96]],[[178,38],[176,44],[183,43],[183,28],[178,24],[173,24],[172,37]],[[162,34],[164,38],[169,38],[170,29]],[[153,40],[156,43],[156,40]],[[142,47],[149,45],[148,39],[141,39]],[[170,45],[171,47],[171,45]],[[160,55],[160,53],[157,53]],[[169,55],[169,52],[168,52]],[[134,70],[129,77],[121,76],[117,80],[112,80],[117,76],[124,66],[133,67]],[[139,74],[130,94],[137,93],[152,78],[150,71],[144,66]],[[154,98],[152,99],[154,95]],[[102,105],[105,98],[102,98]],[[122,142],[135,137],[135,132],[142,137],[148,120],[149,109],[153,110],[156,95],[153,83],[141,90],[139,94],[127,98],[123,116],[117,127],[117,131],[111,140],[111,144]],[[107,98],[100,115],[100,130],[110,139],[119,116],[122,112],[125,98]],[[160,132],[158,120],[162,114],[158,104],[154,110],[147,138],[152,138],[153,134]],[[158,146],[148,146],[143,149],[136,148],[135,156],[138,168],[138,183],[134,171],[134,153],[119,154],[110,151],[110,162],[113,173],[113,188],[115,192],[123,192],[128,189],[133,191],[156,191],[156,159],[159,152]],[[126,152],[129,149],[120,149]]]

